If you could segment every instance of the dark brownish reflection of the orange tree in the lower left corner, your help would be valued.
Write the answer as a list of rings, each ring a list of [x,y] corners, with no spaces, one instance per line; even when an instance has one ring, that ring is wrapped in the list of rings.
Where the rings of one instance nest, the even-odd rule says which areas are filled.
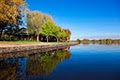
[[[0,60],[0,80],[24,79],[24,58],[9,58]]]

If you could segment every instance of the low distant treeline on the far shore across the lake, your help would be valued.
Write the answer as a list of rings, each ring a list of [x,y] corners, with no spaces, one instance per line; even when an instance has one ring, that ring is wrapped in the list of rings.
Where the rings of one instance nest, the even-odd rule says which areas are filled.
[[[120,44],[120,39],[99,39],[99,40],[89,40],[89,39],[77,39],[76,42],[81,44]]]

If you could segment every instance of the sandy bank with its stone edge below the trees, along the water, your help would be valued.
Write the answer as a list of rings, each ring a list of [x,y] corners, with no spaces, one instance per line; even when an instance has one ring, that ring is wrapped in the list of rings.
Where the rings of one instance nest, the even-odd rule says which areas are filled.
[[[3,42],[0,44],[0,53],[14,53],[19,51],[29,51],[29,50],[42,50],[42,49],[50,49],[50,48],[59,48],[59,47],[67,47],[77,45],[77,42],[70,43],[6,43]]]

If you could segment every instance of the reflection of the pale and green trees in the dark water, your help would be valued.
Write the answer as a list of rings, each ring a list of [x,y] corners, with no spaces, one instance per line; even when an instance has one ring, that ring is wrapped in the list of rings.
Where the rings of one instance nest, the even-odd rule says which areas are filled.
[[[44,76],[53,71],[58,63],[71,56],[69,51],[46,52],[42,56],[27,58],[27,73],[34,76]]]

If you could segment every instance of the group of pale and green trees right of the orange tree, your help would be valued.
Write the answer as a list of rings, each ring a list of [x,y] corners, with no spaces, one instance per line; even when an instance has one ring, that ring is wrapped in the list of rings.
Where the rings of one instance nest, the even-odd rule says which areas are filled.
[[[60,38],[70,37],[70,30],[64,30],[57,26],[52,18],[39,11],[29,12],[27,16],[27,30],[29,34],[37,35],[37,41],[39,41],[39,35],[46,36],[47,42],[49,42],[49,37],[56,37],[57,41]]]

